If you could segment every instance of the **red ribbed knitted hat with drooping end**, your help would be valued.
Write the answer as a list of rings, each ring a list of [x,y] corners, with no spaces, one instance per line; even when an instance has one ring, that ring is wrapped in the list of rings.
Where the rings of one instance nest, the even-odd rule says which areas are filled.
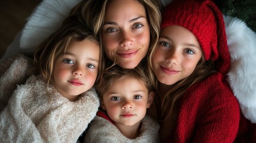
[[[162,14],[163,29],[178,25],[190,30],[198,39],[205,61],[215,61],[217,69],[225,74],[230,68],[230,57],[223,14],[210,0],[174,0]]]

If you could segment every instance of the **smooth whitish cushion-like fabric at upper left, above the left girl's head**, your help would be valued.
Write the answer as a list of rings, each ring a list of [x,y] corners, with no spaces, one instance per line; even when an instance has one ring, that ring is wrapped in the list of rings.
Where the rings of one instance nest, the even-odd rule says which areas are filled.
[[[34,52],[36,47],[57,30],[64,18],[82,0],[43,0],[27,20],[20,37],[20,48]]]

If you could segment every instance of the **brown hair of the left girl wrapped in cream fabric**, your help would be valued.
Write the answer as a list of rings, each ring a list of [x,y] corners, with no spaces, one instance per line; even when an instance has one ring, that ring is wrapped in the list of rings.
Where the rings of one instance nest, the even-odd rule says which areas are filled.
[[[83,41],[84,39],[98,43],[100,46],[98,75],[102,73],[101,69],[104,69],[103,52],[99,39],[86,24],[82,23],[79,17],[70,15],[63,21],[60,29],[52,33],[48,39],[39,45],[34,54],[34,65],[48,85],[49,83],[52,84],[54,80],[53,69],[56,59],[66,52],[71,41]],[[99,76],[97,76],[95,84],[97,84],[98,78]]]

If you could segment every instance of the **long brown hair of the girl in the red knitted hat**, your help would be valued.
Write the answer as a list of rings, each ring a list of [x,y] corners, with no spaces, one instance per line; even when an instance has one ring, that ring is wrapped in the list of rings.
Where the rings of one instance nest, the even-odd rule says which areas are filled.
[[[152,53],[150,53],[149,59],[152,59],[154,52],[155,49],[152,51]],[[155,73],[153,71],[152,61],[150,61],[148,66],[150,81],[154,83],[155,89],[158,89],[159,82],[156,79]],[[156,102],[156,106],[160,107],[158,110],[161,110],[158,111],[161,113],[160,121],[165,121],[170,116],[175,116],[174,108],[177,106],[177,101],[180,100],[180,98],[184,95],[187,89],[190,88],[190,86],[196,82],[200,82],[206,79],[206,77],[216,72],[217,70],[215,70],[214,62],[212,60],[205,61],[202,54],[202,57],[196,65],[193,73],[189,77],[174,83],[170,87],[169,91],[164,95],[162,103],[160,103],[161,101],[159,100],[159,96],[155,96],[154,101]]]

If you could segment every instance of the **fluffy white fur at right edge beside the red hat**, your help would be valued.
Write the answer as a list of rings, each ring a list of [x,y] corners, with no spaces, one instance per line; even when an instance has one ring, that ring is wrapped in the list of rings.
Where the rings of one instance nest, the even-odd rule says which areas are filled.
[[[227,82],[243,115],[256,123],[256,33],[239,18],[224,16],[224,21],[231,58]]]

